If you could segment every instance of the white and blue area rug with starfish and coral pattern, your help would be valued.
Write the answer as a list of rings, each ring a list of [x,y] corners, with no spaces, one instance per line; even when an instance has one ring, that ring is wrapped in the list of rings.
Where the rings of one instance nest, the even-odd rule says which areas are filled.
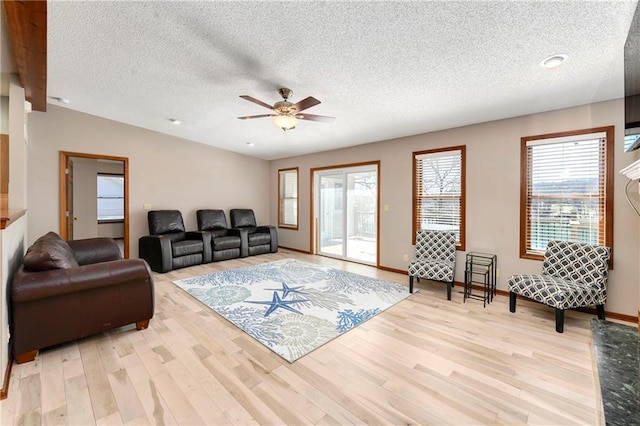
[[[409,296],[400,284],[294,259],[174,284],[289,362]]]

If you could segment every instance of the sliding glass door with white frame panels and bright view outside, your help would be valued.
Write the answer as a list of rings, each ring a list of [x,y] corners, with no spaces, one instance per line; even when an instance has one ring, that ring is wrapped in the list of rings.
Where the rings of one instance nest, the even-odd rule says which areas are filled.
[[[315,172],[317,252],[375,265],[377,164]]]

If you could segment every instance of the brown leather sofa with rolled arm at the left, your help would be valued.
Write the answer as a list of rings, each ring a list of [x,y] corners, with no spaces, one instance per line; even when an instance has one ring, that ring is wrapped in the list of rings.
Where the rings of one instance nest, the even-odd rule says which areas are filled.
[[[16,362],[39,349],[127,324],[148,327],[153,275],[142,259],[122,259],[110,238],[64,241],[54,232],[29,247],[10,288]]]

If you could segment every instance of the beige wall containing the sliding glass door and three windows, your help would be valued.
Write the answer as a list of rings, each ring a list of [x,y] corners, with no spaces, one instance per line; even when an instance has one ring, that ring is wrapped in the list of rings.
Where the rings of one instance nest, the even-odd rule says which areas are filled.
[[[279,229],[279,243],[309,250],[309,169],[345,163],[380,160],[380,265],[406,270],[404,254],[413,255],[412,152],[466,145],[467,199],[466,251],[485,250],[498,255],[498,288],[506,289],[506,277],[539,272],[541,262],[519,258],[520,138],[545,133],[615,125],[614,250],[606,309],[636,316],[638,312],[638,251],[640,219],[624,198],[626,178],[620,169],[635,161],[638,153],[624,153],[622,100],[566,110],[482,123],[441,132],[360,145],[352,148],[293,157],[271,162],[271,217],[277,218],[277,171],[300,168],[300,224],[297,231]],[[635,202],[639,197],[634,194]],[[464,281],[464,253],[457,258],[456,280]]]

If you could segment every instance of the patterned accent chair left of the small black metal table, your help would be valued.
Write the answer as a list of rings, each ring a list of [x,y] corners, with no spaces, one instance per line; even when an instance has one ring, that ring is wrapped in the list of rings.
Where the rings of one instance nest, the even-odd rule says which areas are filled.
[[[413,293],[413,278],[447,283],[447,300],[456,269],[456,234],[445,231],[418,231],[416,257],[409,262],[409,292]]]

